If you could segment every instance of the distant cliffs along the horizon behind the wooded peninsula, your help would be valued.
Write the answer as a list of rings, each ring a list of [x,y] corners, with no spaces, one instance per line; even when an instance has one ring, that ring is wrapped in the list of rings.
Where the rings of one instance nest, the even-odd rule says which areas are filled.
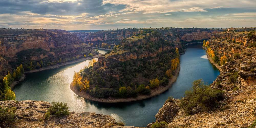
[[[210,38],[211,34],[219,33],[222,29],[204,29],[204,28],[151,28],[152,31],[158,31],[168,42],[192,41]],[[94,46],[100,46],[102,42],[111,46],[118,45],[121,40],[136,36],[137,34],[147,33],[147,29],[128,28],[119,30],[103,30],[96,33],[74,33],[82,38],[84,42],[93,43]]]

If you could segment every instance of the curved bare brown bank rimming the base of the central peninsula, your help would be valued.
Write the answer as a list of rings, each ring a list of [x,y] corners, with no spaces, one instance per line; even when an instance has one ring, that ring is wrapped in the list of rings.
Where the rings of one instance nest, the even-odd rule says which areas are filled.
[[[72,83],[70,84],[70,89],[74,93],[79,95],[80,97],[83,97],[84,99],[87,99],[87,100],[103,102],[103,103],[132,102],[132,101],[138,101],[138,100],[144,100],[144,99],[147,99],[147,98],[151,98],[151,97],[154,97],[156,95],[159,95],[159,94],[165,92],[170,87],[172,87],[172,84],[176,81],[176,79],[178,77],[179,71],[180,71],[180,64],[177,66],[177,69],[175,71],[175,75],[171,79],[169,79],[169,83],[168,83],[167,86],[157,87],[157,88],[151,90],[150,95],[138,95],[136,98],[118,98],[118,99],[116,99],[116,98],[107,98],[107,99],[95,98],[95,97],[92,97],[91,95],[89,95],[88,93],[86,93],[85,91],[80,92],[76,87],[73,86]]]

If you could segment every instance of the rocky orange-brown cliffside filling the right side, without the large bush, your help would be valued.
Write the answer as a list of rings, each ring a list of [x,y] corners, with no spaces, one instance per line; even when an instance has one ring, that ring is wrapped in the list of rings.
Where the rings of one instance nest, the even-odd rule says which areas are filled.
[[[249,34],[250,33],[250,34]],[[249,36],[250,35],[250,36]],[[220,75],[210,85],[225,91],[219,108],[210,112],[186,115],[179,100],[165,102],[155,115],[156,122],[166,121],[168,127],[249,127],[256,120],[256,48],[255,31],[213,34],[204,47],[212,63],[227,57],[223,66],[216,65]],[[205,46],[205,44],[204,44]],[[213,50],[213,52],[209,52]],[[219,60],[214,62],[214,56]],[[216,57],[215,57],[216,58]],[[168,118],[166,118],[168,117]],[[152,124],[149,124],[150,127]]]

